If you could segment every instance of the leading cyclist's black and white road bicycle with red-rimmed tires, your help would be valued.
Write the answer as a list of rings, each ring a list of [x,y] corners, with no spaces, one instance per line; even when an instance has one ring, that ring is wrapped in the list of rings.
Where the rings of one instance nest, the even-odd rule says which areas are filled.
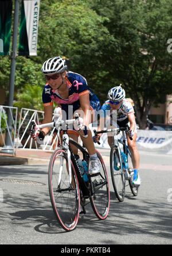
[[[89,175],[90,158],[86,148],[68,136],[68,125],[76,123],[80,129],[82,121],[78,115],[72,120],[57,120],[56,123],[41,125],[36,125],[35,121],[32,121],[34,134],[44,127],[55,126],[57,130],[62,131],[60,148],[54,151],[50,158],[48,185],[54,214],[65,231],[76,228],[80,207],[83,209],[82,213],[86,213],[85,207],[91,203],[93,212],[99,220],[105,220],[110,209],[110,188],[102,156],[96,151],[101,164],[100,173]],[[78,150],[77,156],[80,155],[87,163],[87,181],[81,174],[76,155],[72,152],[72,145]]]

